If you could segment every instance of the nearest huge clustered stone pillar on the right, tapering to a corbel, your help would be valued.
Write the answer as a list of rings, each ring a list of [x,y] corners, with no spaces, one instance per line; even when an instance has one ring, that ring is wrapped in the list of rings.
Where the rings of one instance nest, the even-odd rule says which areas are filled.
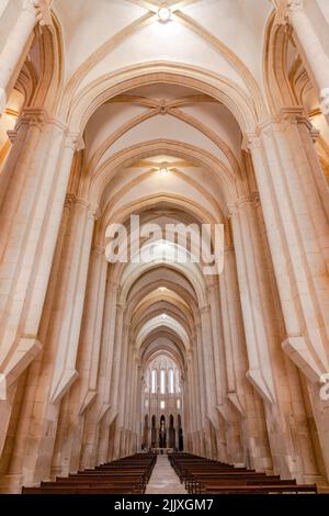
[[[286,328],[282,347],[318,399],[329,370],[329,197],[310,130],[299,110],[285,109],[251,135],[250,149]],[[329,475],[326,408],[314,404]]]

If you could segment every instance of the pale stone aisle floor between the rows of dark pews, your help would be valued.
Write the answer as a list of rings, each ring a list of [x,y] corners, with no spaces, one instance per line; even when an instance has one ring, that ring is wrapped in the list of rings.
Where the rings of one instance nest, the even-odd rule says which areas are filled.
[[[158,456],[146,494],[186,494],[183,484],[173,471],[166,456]]]

